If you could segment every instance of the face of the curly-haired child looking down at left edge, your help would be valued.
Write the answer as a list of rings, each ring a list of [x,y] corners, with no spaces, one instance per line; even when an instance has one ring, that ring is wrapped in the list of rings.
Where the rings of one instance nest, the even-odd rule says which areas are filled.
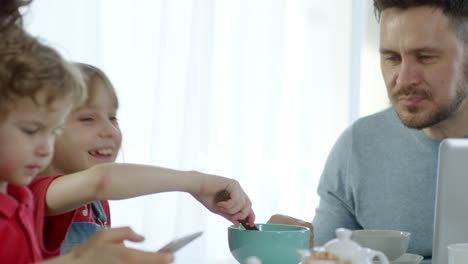
[[[39,93],[37,102],[29,97],[18,98],[0,121],[0,182],[26,185],[44,168],[53,156],[57,133],[71,111],[72,101],[57,99],[46,104]]]

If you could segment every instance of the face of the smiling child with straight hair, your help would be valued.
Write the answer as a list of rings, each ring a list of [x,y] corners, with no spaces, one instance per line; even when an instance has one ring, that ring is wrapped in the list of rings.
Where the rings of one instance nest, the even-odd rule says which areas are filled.
[[[117,103],[109,89],[96,79],[90,99],[70,114],[57,138],[48,174],[70,174],[115,161],[122,134],[116,118]]]

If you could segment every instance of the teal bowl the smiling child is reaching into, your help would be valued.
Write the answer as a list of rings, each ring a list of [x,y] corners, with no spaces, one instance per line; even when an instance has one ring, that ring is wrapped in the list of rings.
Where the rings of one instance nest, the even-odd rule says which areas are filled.
[[[263,264],[297,264],[298,249],[308,249],[310,230],[303,226],[255,224],[260,231],[243,227],[228,227],[228,242],[234,258],[239,263],[251,256]]]

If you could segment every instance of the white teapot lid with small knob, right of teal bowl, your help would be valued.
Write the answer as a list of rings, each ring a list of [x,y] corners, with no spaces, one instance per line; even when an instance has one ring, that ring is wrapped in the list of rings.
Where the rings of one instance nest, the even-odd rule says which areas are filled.
[[[325,250],[339,256],[340,258],[351,258],[361,249],[358,243],[351,240],[352,231],[346,228],[338,228],[336,237],[328,241],[323,247]]]

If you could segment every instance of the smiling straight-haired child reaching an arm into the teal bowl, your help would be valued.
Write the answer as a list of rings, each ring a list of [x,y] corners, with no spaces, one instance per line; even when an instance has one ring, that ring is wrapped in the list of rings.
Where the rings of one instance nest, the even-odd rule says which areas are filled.
[[[101,70],[82,63],[77,66],[84,76],[88,98],[70,114],[57,137],[55,156],[41,173],[58,176],[38,177],[31,187],[33,192],[46,192],[46,204],[39,207],[46,208],[47,215],[73,214],[62,253],[103,226],[110,226],[106,200],[150,193],[188,192],[208,210],[234,224],[249,217],[253,225],[251,202],[235,180],[196,171],[113,163],[122,141],[116,117],[117,96]],[[216,203],[215,195],[222,190],[231,199]],[[73,209],[76,213],[66,213]]]

